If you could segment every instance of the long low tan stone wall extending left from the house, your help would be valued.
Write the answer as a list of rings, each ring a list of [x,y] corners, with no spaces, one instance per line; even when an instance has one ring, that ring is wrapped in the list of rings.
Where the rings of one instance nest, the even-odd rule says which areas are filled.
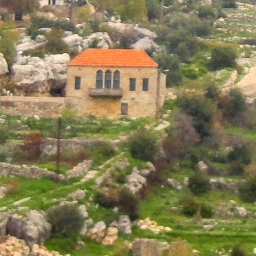
[[[0,96],[1,114],[56,118],[65,107],[65,98]]]

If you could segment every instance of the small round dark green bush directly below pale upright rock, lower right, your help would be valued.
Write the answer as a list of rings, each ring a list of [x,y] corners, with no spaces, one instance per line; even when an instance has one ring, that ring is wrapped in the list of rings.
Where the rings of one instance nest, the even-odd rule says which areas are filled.
[[[196,195],[203,194],[210,190],[209,179],[206,175],[196,172],[189,178],[188,187]]]

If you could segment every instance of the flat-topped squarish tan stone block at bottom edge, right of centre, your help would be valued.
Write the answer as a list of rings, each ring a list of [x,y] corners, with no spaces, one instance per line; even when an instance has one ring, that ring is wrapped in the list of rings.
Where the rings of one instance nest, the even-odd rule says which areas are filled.
[[[169,249],[167,242],[147,238],[136,238],[132,246],[136,256],[164,256],[168,254]]]

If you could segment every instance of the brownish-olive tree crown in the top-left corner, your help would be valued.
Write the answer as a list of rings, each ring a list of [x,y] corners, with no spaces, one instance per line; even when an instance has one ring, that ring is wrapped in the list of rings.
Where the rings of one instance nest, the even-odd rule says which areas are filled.
[[[0,6],[12,8],[15,14],[19,14],[22,19],[22,14],[37,11],[40,4],[38,0],[0,0]]]

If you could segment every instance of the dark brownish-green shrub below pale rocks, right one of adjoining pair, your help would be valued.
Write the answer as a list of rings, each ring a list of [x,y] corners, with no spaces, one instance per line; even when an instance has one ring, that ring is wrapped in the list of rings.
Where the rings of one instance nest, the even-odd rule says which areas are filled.
[[[119,204],[122,206],[126,214],[129,215],[131,220],[138,218],[138,206],[139,206],[138,196],[132,194],[127,188],[123,188],[120,191]]]

